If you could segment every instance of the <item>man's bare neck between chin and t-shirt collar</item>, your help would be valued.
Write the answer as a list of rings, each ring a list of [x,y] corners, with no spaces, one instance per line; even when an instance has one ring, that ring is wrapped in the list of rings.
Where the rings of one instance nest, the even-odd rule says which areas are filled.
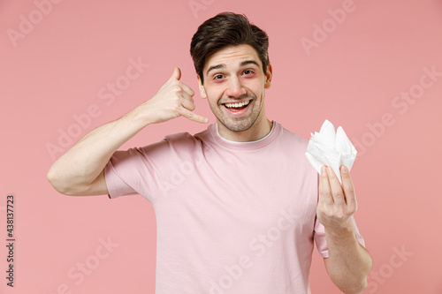
[[[267,118],[263,117],[262,120],[255,121],[248,130],[243,132],[233,132],[225,127],[224,124],[217,122],[218,133],[224,139],[228,139],[236,142],[249,142],[262,139],[271,132],[273,123]]]

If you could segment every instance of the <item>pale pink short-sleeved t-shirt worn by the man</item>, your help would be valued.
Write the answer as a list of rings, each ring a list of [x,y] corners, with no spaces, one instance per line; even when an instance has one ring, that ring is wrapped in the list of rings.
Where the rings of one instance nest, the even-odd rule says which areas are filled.
[[[276,122],[252,142],[210,124],[115,152],[110,198],[140,194],[155,209],[156,294],[309,293],[314,240],[324,258],[328,248],[307,144]]]

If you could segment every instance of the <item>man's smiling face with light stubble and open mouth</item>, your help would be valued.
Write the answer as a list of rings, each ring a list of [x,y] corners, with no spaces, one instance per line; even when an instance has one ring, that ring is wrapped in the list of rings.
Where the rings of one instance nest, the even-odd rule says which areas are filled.
[[[218,128],[222,124],[232,132],[244,132],[267,119],[264,89],[271,86],[271,65],[264,73],[253,47],[241,44],[218,50],[206,60],[202,74],[204,85],[197,77],[200,93],[208,98]]]

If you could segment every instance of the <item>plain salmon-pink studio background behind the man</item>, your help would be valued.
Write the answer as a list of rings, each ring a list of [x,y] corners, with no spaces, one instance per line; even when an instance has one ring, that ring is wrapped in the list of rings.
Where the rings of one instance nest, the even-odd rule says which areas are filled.
[[[336,24],[328,10],[343,5],[346,19]],[[174,66],[196,91],[190,39],[220,11],[246,13],[270,35],[268,117],[305,139],[327,118],[342,125],[359,150],[352,170],[355,219],[374,259],[365,293],[442,293],[442,76],[431,87],[428,77],[426,88],[418,86],[423,68],[442,72],[441,1],[65,0],[43,5],[47,15],[37,6],[30,0],[0,4],[0,227],[4,244],[6,195],[14,193],[17,240],[13,289],[5,285],[7,252],[0,246],[2,293],[154,293],[150,203],[141,196],[58,194],[46,174],[61,152],[51,154],[48,146],[59,146],[60,132],[71,132],[75,136],[59,147],[65,152],[80,136],[149,99]],[[21,34],[20,22],[29,18],[34,27],[21,25],[26,34],[12,40],[11,30]],[[304,49],[302,38],[314,40],[315,27],[323,25],[325,40],[316,32],[316,47]],[[149,67],[114,101],[101,99],[101,89],[122,83],[129,60],[139,58]],[[423,93],[410,102],[395,98],[410,89]],[[213,123],[199,98],[195,112]],[[84,118],[90,107],[95,116],[80,126],[75,117]],[[123,148],[205,127],[179,117],[149,126]],[[115,247],[103,258],[100,239],[108,237]],[[78,269],[85,262],[88,275]],[[310,284],[313,293],[339,293],[316,252]]]

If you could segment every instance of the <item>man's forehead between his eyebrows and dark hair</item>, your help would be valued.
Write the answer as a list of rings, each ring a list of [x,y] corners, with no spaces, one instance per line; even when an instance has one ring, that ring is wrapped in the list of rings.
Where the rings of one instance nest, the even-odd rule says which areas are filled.
[[[261,64],[258,53],[252,46],[248,44],[228,46],[217,50],[207,58],[203,72],[207,73],[210,67],[219,64],[225,64],[226,67],[236,66],[246,60],[255,60],[256,63]]]

